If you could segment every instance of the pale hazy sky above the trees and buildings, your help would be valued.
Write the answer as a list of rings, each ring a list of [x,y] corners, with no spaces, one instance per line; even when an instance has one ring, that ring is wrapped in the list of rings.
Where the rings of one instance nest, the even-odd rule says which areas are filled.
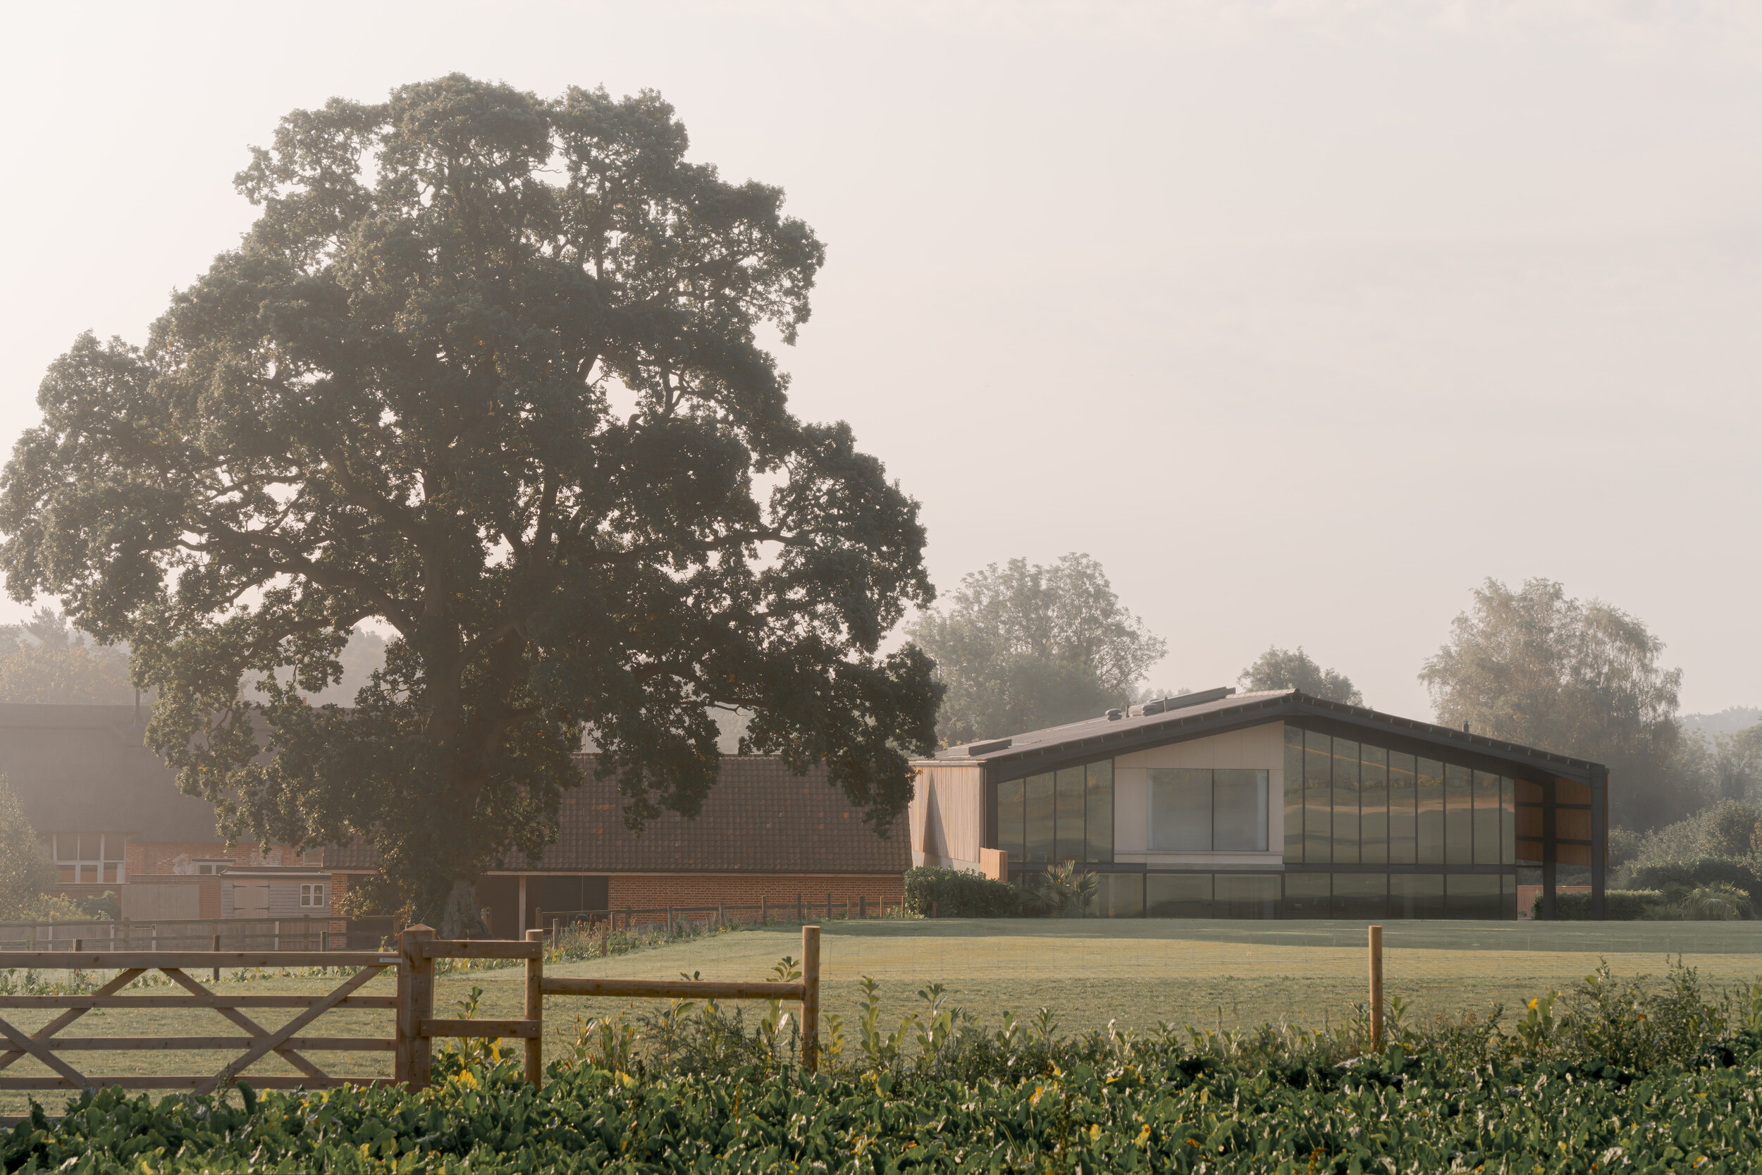
[[[1686,710],[1755,705],[1758,12],[16,5],[0,439],[236,243],[289,109],[647,86],[828,241],[793,402],[923,502],[944,590],[1087,551],[1159,685],[1304,645],[1424,717],[1470,590],[1549,576],[1642,617]]]

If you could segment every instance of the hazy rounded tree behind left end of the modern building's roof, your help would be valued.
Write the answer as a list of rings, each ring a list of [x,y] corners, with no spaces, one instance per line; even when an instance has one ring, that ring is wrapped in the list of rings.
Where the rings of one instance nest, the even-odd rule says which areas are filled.
[[[948,687],[944,745],[1099,717],[1168,652],[1121,606],[1101,564],[1077,553],[974,571],[946,613],[925,611],[906,631]]]

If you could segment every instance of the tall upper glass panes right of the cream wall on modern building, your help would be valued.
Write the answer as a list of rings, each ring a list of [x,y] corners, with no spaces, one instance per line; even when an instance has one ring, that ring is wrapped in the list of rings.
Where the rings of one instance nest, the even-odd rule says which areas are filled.
[[[1515,865],[1515,782],[1284,728],[1286,865]]]

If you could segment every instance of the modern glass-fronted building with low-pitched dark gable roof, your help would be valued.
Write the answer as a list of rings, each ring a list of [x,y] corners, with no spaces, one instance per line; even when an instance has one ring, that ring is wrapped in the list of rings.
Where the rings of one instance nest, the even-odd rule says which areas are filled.
[[[1212,689],[914,761],[911,860],[1099,876],[1110,918],[1517,918],[1589,867],[1609,770],[1299,691]]]

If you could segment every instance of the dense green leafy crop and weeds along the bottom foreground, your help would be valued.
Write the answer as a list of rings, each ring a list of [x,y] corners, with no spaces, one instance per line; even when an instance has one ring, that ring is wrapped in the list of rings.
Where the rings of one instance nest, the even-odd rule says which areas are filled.
[[[1403,1024],[1357,1055],[1334,1032],[1126,1032],[1061,1039],[1045,1013],[981,1031],[939,992],[899,1032],[865,1011],[823,1076],[784,1024],[714,1006],[585,1025],[543,1089],[493,1045],[437,1059],[439,1083],[204,1097],[104,1092],[0,1136],[7,1171],[1748,1171],[1762,1154],[1762,987],[1707,994],[1607,967],[1501,1016]],[[870,1009],[876,1008],[870,990]],[[735,1053],[705,1052],[735,1029]],[[671,1034],[668,1039],[663,1036]],[[833,1027],[833,1036],[839,1027]],[[907,1057],[893,1048],[914,1036]],[[692,1041],[696,1041],[692,1045]],[[691,1045],[680,1048],[680,1045]],[[722,1038],[728,1043],[728,1038]],[[892,1052],[890,1052],[892,1048]],[[659,1050],[659,1052],[657,1052]],[[610,1062],[610,1064],[606,1064]],[[629,1066],[629,1068],[624,1068]]]

